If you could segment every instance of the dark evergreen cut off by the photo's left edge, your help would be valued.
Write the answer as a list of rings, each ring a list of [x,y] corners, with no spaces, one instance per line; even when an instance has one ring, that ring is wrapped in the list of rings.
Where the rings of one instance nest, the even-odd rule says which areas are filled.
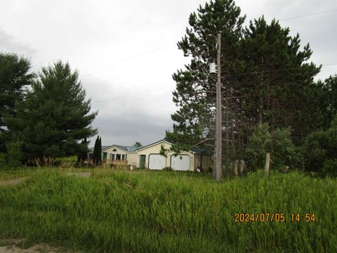
[[[0,52],[0,153],[5,152],[9,138],[4,117],[13,117],[15,102],[25,97],[25,87],[30,86],[34,77],[29,73],[30,67],[29,59]]]

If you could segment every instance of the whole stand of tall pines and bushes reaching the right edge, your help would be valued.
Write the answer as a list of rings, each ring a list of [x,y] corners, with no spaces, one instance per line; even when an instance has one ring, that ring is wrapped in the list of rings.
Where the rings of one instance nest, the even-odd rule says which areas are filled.
[[[299,34],[292,37],[289,27],[264,17],[244,27],[245,19],[232,0],[210,1],[190,14],[178,48],[191,60],[173,74],[178,110],[166,140],[176,143],[177,152],[199,145],[214,153],[216,76],[209,74],[209,64],[216,62],[221,32],[223,145],[228,145],[223,161],[246,160],[257,169],[261,161],[254,161],[263,162],[263,150],[278,157],[275,167],[317,171],[327,160],[336,162],[336,155],[327,155],[333,152],[323,145],[324,134],[313,133],[335,127],[337,76],[315,82],[322,65],[310,62],[312,50],[309,44],[301,47]],[[319,163],[308,162],[310,138],[317,143],[311,158],[320,156]],[[226,167],[230,171],[230,164]]]

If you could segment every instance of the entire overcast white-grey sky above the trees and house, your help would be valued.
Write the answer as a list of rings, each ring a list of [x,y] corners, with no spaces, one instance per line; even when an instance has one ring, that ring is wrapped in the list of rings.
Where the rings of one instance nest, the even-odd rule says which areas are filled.
[[[0,0],[0,51],[77,69],[103,145],[147,145],[171,129],[171,75],[187,59],[176,43],[201,0]],[[336,0],[237,0],[246,23],[265,15],[310,43],[317,79],[337,73]],[[323,13],[324,12],[324,13]],[[320,13],[316,15],[310,15]],[[298,18],[296,18],[298,17]],[[334,64],[334,65],[333,65]]]

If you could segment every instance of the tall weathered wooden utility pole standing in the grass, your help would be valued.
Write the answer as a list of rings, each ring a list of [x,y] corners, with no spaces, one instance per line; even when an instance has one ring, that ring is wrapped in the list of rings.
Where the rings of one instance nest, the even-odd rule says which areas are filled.
[[[218,82],[216,82],[216,181],[221,180],[221,141],[222,124],[221,124],[221,32],[218,32],[218,57],[217,57],[217,74]]]

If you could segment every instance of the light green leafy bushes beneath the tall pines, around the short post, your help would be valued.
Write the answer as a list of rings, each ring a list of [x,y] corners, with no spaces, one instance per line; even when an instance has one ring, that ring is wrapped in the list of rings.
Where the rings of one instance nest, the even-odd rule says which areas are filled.
[[[246,160],[251,169],[264,167],[265,155],[270,153],[270,167],[300,167],[300,150],[291,141],[290,129],[275,129],[270,134],[267,124],[259,124],[249,138]]]

